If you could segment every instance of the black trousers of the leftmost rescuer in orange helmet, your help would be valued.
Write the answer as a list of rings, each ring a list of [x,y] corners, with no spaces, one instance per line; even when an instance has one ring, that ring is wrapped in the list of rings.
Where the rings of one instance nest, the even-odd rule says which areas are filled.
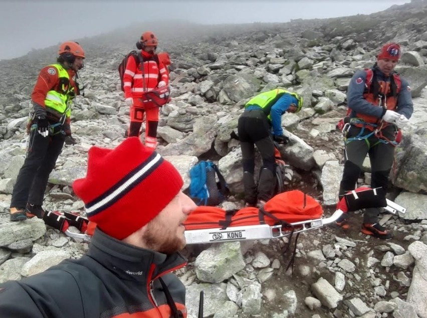
[[[25,208],[27,203],[42,205],[49,175],[64,145],[65,134],[43,137],[34,129],[29,135],[27,157],[19,171],[12,194],[11,208]]]

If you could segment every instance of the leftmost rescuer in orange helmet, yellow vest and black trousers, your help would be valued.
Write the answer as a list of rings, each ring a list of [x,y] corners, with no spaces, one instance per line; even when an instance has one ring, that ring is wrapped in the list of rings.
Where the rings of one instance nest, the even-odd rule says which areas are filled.
[[[40,71],[31,95],[27,155],[12,194],[11,221],[43,218],[49,175],[66,138],[75,143],[70,128],[71,103],[80,89],[73,77],[83,67],[85,52],[77,42],[69,41],[60,45],[58,55],[57,64]]]

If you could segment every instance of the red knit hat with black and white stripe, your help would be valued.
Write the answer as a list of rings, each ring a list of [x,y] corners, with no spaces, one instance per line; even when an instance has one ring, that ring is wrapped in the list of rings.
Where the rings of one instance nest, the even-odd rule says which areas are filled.
[[[183,185],[175,167],[138,137],[114,149],[91,147],[85,178],[73,183],[90,221],[122,240],[150,222]]]

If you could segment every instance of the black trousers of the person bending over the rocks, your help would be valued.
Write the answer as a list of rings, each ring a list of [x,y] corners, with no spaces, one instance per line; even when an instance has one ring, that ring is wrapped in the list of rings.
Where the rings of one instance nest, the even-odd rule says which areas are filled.
[[[245,201],[255,204],[257,197],[268,201],[274,195],[276,162],[267,116],[262,110],[246,110],[239,118],[238,133],[242,150]],[[255,146],[263,160],[258,190],[254,182]]]

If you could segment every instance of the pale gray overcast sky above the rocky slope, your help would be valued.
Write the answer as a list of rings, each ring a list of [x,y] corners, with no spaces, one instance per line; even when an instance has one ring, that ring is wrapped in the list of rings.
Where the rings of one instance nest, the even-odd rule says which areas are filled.
[[[288,22],[371,14],[410,0],[0,0],[0,59],[135,22]]]

